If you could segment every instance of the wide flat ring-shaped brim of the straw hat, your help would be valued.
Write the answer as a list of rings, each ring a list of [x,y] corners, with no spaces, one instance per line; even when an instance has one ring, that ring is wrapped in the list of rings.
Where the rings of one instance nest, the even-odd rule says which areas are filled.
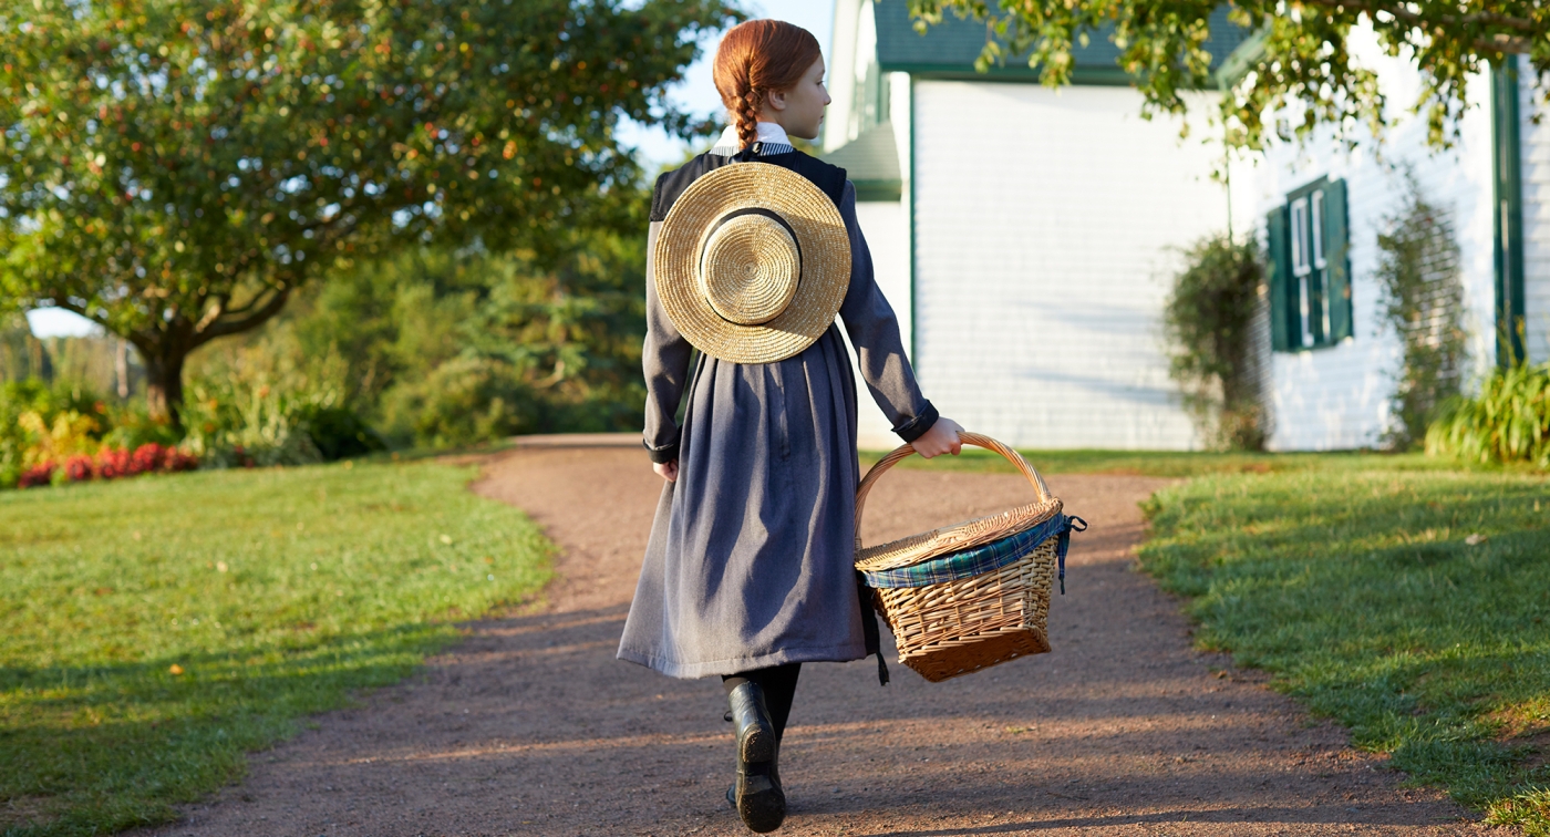
[[[701,294],[696,270],[718,220],[739,209],[778,214],[801,248],[801,279],[773,319],[722,319]],[[851,287],[851,237],[839,208],[811,180],[783,166],[735,163],[701,175],[673,203],[653,250],[657,299],[696,349],[732,363],[775,363],[812,346]]]

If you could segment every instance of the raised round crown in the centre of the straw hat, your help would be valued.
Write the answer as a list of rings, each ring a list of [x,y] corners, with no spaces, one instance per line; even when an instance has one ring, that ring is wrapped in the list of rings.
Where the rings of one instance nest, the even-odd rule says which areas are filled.
[[[766,212],[733,214],[705,239],[698,284],[727,322],[760,326],[781,315],[801,282],[801,248]]]

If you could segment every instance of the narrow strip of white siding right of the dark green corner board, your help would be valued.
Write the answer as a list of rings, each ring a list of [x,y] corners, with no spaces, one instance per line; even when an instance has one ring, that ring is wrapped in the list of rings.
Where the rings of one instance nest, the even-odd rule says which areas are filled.
[[[1522,67],[1527,70],[1528,64]],[[1550,361],[1550,108],[1528,70],[1521,76],[1521,160],[1524,172],[1524,318],[1533,363]],[[1534,115],[1541,115],[1534,124]]]

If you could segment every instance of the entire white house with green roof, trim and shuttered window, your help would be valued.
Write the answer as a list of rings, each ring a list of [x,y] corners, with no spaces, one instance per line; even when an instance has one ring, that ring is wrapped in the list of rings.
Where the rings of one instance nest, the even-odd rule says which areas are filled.
[[[1246,33],[1226,22],[1224,9],[1217,19],[1209,48],[1226,64],[1252,43],[1245,46]],[[1471,112],[1451,157],[1428,153],[1424,126],[1404,124],[1383,158],[1314,143],[1224,166],[1206,119],[1214,91],[1190,95],[1194,124],[1183,140],[1180,121],[1142,118],[1141,95],[1114,65],[1107,40],[1077,53],[1076,84],[1049,90],[1020,62],[975,73],[984,37],[983,25],[952,16],[921,36],[904,0],[835,3],[825,158],[857,183],[879,282],[942,414],[1018,446],[1198,446],[1167,378],[1159,329],[1178,248],[1232,225],[1260,229],[1283,251],[1291,229],[1266,220],[1290,223],[1296,205],[1304,219],[1297,231],[1310,236],[1304,214],[1318,203],[1318,243],[1324,246],[1331,231],[1347,239],[1341,251],[1348,270],[1325,264],[1310,274],[1314,285],[1302,279],[1273,288],[1265,329],[1268,338],[1276,324],[1276,350],[1265,364],[1269,443],[1375,445],[1387,426],[1398,344],[1381,336],[1376,322],[1373,242],[1397,200],[1387,166],[1400,150],[1414,158],[1434,200],[1454,212],[1477,361],[1496,356],[1497,287],[1514,316],[1527,316],[1530,355],[1545,356],[1550,124],[1531,126],[1527,85],[1517,88],[1513,115],[1502,107]],[[1414,85],[1414,70],[1389,60],[1383,74],[1393,78],[1392,101],[1409,101],[1400,88],[1406,79]],[[1480,79],[1476,90],[1490,84]],[[1519,138],[1517,180],[1505,163],[1493,169],[1493,160],[1508,157],[1493,157],[1497,112],[1497,133],[1513,129]],[[1231,188],[1212,178],[1217,170],[1231,174]],[[1499,215],[1497,181],[1521,183],[1522,200],[1508,202],[1500,217],[1521,215],[1528,231],[1508,236],[1505,273],[1496,267],[1504,259],[1493,260],[1504,240],[1491,220]],[[1321,277],[1330,294],[1318,293]],[[1336,287],[1345,277],[1348,294]],[[1288,287],[1304,296],[1311,287],[1316,302],[1348,305],[1331,302],[1314,318]],[[891,445],[873,412],[862,409],[862,445]]]

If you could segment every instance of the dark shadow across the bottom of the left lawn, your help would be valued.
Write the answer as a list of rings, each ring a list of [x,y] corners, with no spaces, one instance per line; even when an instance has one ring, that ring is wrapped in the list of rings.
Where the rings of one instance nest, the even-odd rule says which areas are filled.
[[[411,674],[457,639],[411,625],[290,648],[0,668],[0,832],[113,832],[239,780],[299,719]],[[174,673],[174,666],[181,674]]]

